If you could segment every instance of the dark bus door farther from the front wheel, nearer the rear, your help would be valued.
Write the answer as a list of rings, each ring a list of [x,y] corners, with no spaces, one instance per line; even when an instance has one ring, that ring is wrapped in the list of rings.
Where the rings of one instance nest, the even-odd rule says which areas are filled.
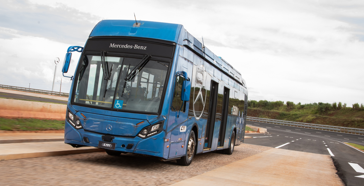
[[[229,96],[230,96],[230,89],[224,87],[223,93],[223,100],[222,100],[222,114],[221,114],[221,124],[220,124],[220,132],[219,132],[219,139],[217,142],[218,147],[224,146],[224,139],[225,139],[225,132],[226,132],[226,122],[227,122],[227,112],[229,110]]]

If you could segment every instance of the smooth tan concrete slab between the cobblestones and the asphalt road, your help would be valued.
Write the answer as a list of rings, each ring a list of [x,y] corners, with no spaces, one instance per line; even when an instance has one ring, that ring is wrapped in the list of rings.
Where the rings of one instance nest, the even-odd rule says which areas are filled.
[[[214,185],[332,185],[343,186],[328,155],[269,149],[173,186]]]

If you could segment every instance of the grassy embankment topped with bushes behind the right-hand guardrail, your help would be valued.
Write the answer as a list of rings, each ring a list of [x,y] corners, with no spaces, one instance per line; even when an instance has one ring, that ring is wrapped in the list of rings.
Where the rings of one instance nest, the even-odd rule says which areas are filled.
[[[346,103],[269,102],[248,101],[248,116],[279,119],[294,122],[324,124],[341,127],[364,128],[364,106],[358,103],[347,107]]]

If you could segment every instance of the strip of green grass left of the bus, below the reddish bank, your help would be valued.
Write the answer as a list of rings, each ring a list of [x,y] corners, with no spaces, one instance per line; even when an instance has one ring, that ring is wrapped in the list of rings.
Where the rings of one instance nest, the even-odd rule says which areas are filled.
[[[64,121],[42,119],[6,119],[0,118],[0,130],[64,130]]]

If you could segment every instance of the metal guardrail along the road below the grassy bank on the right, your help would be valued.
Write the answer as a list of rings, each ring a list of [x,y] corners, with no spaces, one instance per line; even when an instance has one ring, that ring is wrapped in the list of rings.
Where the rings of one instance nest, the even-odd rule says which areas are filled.
[[[255,118],[255,117],[250,117],[250,116],[247,116],[246,120],[253,121],[253,122],[255,121],[255,122],[280,124],[280,125],[293,126],[293,127],[312,128],[312,129],[317,129],[317,130],[327,130],[327,131],[334,131],[334,132],[343,132],[343,133],[349,133],[349,134],[364,135],[364,129],[362,129],[362,128],[349,128],[349,127],[338,127],[338,126],[323,125],[323,124],[290,122],[290,121],[277,120],[277,119]]]

